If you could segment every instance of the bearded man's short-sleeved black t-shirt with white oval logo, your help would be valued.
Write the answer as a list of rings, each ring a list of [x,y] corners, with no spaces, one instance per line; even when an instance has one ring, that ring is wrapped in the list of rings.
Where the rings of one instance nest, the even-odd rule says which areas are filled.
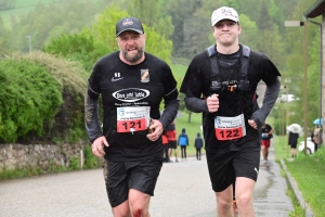
[[[93,92],[102,95],[103,135],[109,144],[105,148],[105,157],[123,161],[162,156],[161,138],[154,142],[148,140],[147,129],[118,132],[117,113],[123,107],[146,106],[150,117],[159,119],[161,100],[168,103],[178,99],[177,81],[170,67],[150,53],[145,53],[145,60],[138,65],[128,65],[118,55],[119,52],[114,52],[99,60],[88,80],[92,90],[88,90],[90,98],[96,97]],[[135,127],[138,124],[143,125],[135,123]]]

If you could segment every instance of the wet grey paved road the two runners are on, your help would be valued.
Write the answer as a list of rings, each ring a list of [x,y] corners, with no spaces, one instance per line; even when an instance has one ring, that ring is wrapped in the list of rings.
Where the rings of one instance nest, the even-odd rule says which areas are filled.
[[[286,196],[271,150],[270,164],[262,165],[255,189],[257,217],[287,217],[292,204]],[[0,182],[1,217],[110,217],[101,169],[46,175]],[[153,217],[216,216],[206,159],[164,164],[152,197]]]

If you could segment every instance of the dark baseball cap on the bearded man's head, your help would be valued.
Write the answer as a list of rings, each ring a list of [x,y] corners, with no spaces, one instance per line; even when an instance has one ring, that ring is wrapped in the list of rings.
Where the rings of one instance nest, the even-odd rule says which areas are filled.
[[[121,18],[116,23],[116,36],[119,36],[126,30],[134,30],[139,34],[144,34],[141,22],[135,17]]]

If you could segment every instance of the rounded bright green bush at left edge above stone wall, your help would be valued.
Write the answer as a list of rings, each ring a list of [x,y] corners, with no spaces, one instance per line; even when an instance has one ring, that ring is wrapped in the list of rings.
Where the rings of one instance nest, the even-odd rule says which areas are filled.
[[[34,131],[43,135],[44,122],[62,104],[60,86],[48,69],[29,61],[0,62],[0,139],[15,142]]]

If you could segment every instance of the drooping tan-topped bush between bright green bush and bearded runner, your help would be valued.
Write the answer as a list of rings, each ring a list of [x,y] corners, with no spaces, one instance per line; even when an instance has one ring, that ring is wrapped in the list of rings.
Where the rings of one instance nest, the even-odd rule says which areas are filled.
[[[83,94],[89,73],[77,62],[56,58],[49,53],[35,51],[20,56],[36,62],[49,69],[49,73],[61,85],[63,104],[60,112],[47,123],[47,137],[43,140],[55,143],[74,143],[86,140],[83,123]]]

